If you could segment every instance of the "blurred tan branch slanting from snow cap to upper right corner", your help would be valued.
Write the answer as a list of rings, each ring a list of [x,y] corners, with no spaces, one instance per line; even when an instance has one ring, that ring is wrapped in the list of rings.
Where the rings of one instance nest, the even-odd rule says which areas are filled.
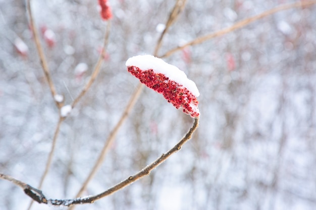
[[[188,46],[193,46],[193,45],[196,45],[196,44],[201,44],[209,39],[213,39],[215,37],[219,37],[219,36],[223,36],[224,34],[227,34],[227,33],[230,33],[232,31],[235,31],[237,29],[240,29],[254,21],[257,21],[257,20],[260,20],[262,18],[265,18],[267,16],[270,16],[270,15],[273,15],[277,12],[280,12],[280,11],[283,11],[283,10],[289,10],[289,9],[292,9],[292,8],[298,8],[298,7],[309,7],[311,5],[314,5],[316,4],[316,1],[299,1],[299,2],[295,2],[295,3],[292,3],[292,4],[285,4],[285,5],[281,5],[279,7],[276,7],[276,8],[273,8],[271,10],[268,10],[268,11],[265,11],[259,15],[255,15],[253,17],[250,17],[250,18],[247,18],[247,19],[244,19],[242,21],[239,21],[237,22],[236,24],[230,26],[230,27],[227,27],[227,28],[224,28],[222,30],[219,30],[219,31],[216,31],[214,33],[210,33],[210,34],[207,34],[205,36],[201,36],[201,37],[197,37],[196,39],[184,44],[184,45],[181,45],[179,47],[176,47],[174,49],[171,49],[169,50],[168,52],[166,52],[164,55],[162,55],[161,57],[168,57],[170,56],[171,54],[175,53],[176,51],[178,50],[181,50],[183,48],[186,48]]]

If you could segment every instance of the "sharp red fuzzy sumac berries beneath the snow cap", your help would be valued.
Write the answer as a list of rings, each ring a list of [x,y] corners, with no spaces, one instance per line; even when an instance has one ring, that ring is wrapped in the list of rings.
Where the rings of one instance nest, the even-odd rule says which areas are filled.
[[[198,117],[198,101],[187,88],[179,83],[169,80],[164,74],[155,73],[153,69],[143,71],[136,66],[128,66],[128,72],[138,78],[141,83],[148,88],[164,95],[169,103],[172,103],[177,109],[183,108],[183,112],[191,117]]]

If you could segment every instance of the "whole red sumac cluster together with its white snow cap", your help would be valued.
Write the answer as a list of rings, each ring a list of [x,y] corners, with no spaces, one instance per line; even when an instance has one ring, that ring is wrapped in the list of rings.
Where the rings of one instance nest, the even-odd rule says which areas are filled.
[[[164,95],[168,102],[191,117],[198,117],[199,91],[178,67],[152,55],[137,55],[126,61],[128,72],[148,88]]]

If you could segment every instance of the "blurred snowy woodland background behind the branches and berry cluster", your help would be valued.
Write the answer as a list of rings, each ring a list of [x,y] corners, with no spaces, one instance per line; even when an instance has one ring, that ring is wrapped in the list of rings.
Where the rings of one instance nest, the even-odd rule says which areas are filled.
[[[62,123],[42,190],[73,198],[138,80],[126,60],[152,54],[176,1],[110,1],[107,56],[93,86]],[[159,55],[287,0],[187,1]],[[0,1],[0,172],[37,186],[58,109],[39,63],[24,1]],[[65,103],[80,93],[107,23],[97,1],[32,1],[35,23],[56,35],[44,52]],[[165,61],[200,92],[200,126],[182,150],[149,176],[76,209],[315,209],[316,7],[278,12],[239,30],[177,51]],[[17,38],[28,47],[22,56]],[[83,74],[75,71],[86,63]],[[193,119],[144,88],[84,195],[100,193],[173,147]],[[0,180],[0,209],[31,199]],[[67,209],[34,203],[32,209]]]

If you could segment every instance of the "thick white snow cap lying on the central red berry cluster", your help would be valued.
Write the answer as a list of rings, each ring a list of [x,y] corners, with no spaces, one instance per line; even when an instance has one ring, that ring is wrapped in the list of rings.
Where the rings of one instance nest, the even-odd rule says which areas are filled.
[[[165,62],[161,58],[157,58],[152,55],[137,55],[130,57],[126,61],[126,66],[137,66],[143,71],[152,69],[155,73],[164,74],[170,80],[183,85],[196,97],[200,95],[195,83],[192,80],[189,80],[184,72],[182,72],[178,67]]]

